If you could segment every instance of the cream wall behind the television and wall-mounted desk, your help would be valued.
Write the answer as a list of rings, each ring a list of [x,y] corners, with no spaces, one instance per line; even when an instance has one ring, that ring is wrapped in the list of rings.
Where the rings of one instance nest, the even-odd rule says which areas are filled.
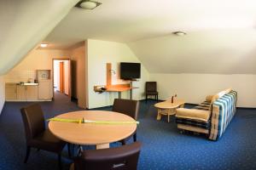
[[[113,99],[118,98],[118,93],[97,94],[93,87],[96,85],[106,85],[107,69],[106,64],[111,63],[112,69],[117,73],[112,75],[112,83],[125,83],[119,79],[120,62],[140,62],[137,56],[132,53],[131,49],[125,43],[106,42],[98,40],[88,40],[88,95],[89,108],[113,105]],[[142,65],[141,79],[134,82],[133,99],[144,99],[145,82],[148,81],[148,71]],[[129,93],[123,92],[122,98],[128,99]]]

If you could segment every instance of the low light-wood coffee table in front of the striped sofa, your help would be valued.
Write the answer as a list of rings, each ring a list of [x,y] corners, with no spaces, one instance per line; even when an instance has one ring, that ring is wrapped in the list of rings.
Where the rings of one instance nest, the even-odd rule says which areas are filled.
[[[162,115],[168,116],[168,122],[170,122],[170,115],[176,114],[176,109],[178,107],[183,107],[185,104],[183,99],[174,99],[173,103],[172,101],[166,100],[160,103],[157,103],[154,105],[154,107],[157,108],[157,117],[156,119],[159,121],[161,119]]]

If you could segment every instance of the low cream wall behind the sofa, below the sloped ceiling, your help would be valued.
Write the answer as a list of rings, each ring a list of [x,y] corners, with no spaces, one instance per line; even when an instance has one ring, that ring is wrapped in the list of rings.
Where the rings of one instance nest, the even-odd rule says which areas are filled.
[[[201,103],[208,94],[225,88],[238,93],[239,107],[256,107],[256,75],[218,74],[150,74],[150,81],[158,83],[160,99],[177,94],[187,103]]]

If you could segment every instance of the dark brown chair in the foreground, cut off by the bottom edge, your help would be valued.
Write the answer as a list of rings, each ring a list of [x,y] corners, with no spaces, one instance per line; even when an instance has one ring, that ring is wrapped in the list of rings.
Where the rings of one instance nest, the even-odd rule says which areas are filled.
[[[137,170],[141,144],[135,142],[116,148],[84,150],[74,158],[75,170]]]

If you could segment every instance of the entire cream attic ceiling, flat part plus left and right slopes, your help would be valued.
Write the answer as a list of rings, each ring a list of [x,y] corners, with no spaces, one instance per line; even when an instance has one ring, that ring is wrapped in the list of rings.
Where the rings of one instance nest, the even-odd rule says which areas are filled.
[[[94,10],[72,8],[78,0],[1,1],[0,74],[43,39],[69,48],[88,38],[127,43],[149,72],[256,73],[256,1],[98,1]]]

